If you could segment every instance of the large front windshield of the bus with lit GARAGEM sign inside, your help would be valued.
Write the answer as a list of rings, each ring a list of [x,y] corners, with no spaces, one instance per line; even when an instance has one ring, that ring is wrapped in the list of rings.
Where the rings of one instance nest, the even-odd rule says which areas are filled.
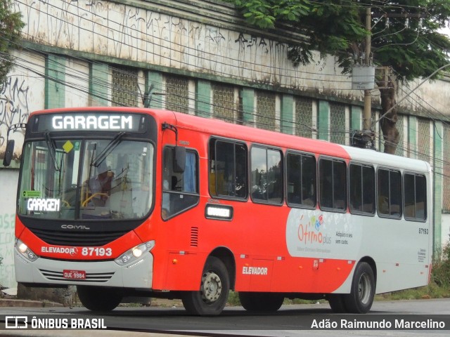
[[[25,144],[19,214],[64,220],[142,218],[153,192],[153,145],[113,139]]]

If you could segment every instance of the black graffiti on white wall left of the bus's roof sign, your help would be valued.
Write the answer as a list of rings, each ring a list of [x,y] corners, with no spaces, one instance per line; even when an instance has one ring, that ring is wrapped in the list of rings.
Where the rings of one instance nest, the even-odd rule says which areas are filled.
[[[30,114],[29,92],[25,77],[7,77],[0,86],[0,158],[4,157],[8,128],[27,122]],[[23,133],[20,129],[11,132]]]

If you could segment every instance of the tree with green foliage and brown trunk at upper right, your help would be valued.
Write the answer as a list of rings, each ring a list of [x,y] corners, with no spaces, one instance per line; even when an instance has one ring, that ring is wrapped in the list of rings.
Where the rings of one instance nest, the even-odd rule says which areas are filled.
[[[355,62],[364,59],[368,34],[373,65],[391,67],[399,81],[429,77],[450,63],[450,39],[440,32],[448,25],[450,0],[228,1],[261,29],[290,25],[304,33],[305,41],[290,46],[288,53],[295,65],[309,64],[312,51],[319,51],[335,55],[338,65],[348,73]],[[366,8],[371,8],[370,31],[364,28]],[[382,114],[388,112],[380,124],[387,142],[385,152],[389,153],[395,152],[399,136],[392,83],[390,88],[380,87]]]

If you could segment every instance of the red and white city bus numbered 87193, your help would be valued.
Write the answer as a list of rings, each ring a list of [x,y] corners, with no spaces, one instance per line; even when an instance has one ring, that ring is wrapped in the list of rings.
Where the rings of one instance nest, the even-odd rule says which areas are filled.
[[[247,310],[326,298],[335,312],[368,312],[375,293],[428,284],[430,172],[416,159],[165,110],[34,112],[15,277],[76,285],[90,310],[145,296],[218,315],[233,290]]]

